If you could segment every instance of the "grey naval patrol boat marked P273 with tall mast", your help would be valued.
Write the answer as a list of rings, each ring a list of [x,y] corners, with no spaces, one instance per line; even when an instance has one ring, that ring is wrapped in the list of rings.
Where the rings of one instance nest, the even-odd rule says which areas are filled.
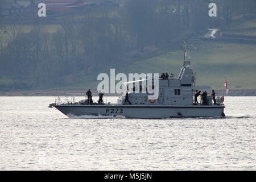
[[[63,114],[68,116],[97,115],[126,118],[192,118],[192,117],[225,117],[223,97],[216,97],[213,104],[212,96],[207,96],[207,104],[199,102],[195,104],[196,73],[191,69],[191,57],[187,53],[187,43],[183,41],[184,62],[179,77],[157,78],[159,81],[159,97],[156,100],[148,100],[148,93],[134,93],[127,91],[126,95],[119,97],[117,104],[92,104],[88,101],[75,104],[50,104]],[[130,85],[142,80],[127,82]],[[153,82],[154,84],[154,82]],[[129,103],[127,103],[127,100]]]

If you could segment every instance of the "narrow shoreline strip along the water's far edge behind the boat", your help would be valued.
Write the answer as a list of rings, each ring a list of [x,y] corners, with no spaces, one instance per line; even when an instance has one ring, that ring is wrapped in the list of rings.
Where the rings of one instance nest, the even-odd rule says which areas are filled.
[[[97,96],[97,89],[91,89],[93,96]],[[201,89],[204,90],[204,89]],[[208,94],[210,89],[205,89]],[[59,89],[57,96],[85,96],[85,89]],[[216,96],[222,96],[223,90],[215,90]],[[16,90],[16,91],[0,91],[0,96],[55,96],[55,89],[35,89],[35,90]],[[120,94],[105,94],[105,96],[120,96]],[[256,89],[229,90],[228,96],[256,96]]]

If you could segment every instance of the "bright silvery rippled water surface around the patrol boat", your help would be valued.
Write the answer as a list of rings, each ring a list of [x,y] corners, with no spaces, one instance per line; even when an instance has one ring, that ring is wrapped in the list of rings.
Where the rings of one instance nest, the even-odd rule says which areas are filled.
[[[68,118],[55,97],[0,100],[0,170],[256,169],[256,97],[225,97],[225,119]]]

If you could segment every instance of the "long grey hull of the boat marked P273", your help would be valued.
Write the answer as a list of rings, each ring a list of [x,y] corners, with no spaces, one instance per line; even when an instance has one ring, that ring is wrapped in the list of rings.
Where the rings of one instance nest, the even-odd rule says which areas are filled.
[[[152,106],[152,105],[53,105],[65,115],[110,115],[127,118],[224,117],[225,106]]]

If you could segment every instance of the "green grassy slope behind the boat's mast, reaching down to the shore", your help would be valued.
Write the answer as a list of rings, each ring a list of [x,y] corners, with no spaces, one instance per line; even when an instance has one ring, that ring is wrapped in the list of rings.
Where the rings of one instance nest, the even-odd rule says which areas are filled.
[[[226,77],[229,89],[256,89],[256,45],[197,42],[197,48],[190,52],[191,65],[196,72],[198,86],[211,86],[212,89],[222,89]],[[179,47],[179,46],[177,46]],[[150,59],[130,61],[118,64],[117,73],[174,73],[177,77],[183,67],[183,52],[180,49]],[[106,71],[109,75],[109,70]],[[85,85],[95,88],[97,75],[86,77],[80,84],[68,88],[84,88]]]

